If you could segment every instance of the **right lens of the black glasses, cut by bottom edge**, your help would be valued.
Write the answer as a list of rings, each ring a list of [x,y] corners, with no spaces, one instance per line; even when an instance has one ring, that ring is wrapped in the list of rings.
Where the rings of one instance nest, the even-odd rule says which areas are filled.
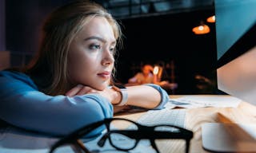
[[[158,150],[161,153],[162,152],[186,152],[186,139],[178,139],[178,135],[180,133],[180,130],[178,128],[174,128],[171,126],[158,126],[157,128],[154,129],[154,131],[170,132],[170,136],[168,134],[165,134],[161,138],[161,135],[158,135],[159,137],[157,136],[158,138],[154,140],[156,147],[158,147]]]

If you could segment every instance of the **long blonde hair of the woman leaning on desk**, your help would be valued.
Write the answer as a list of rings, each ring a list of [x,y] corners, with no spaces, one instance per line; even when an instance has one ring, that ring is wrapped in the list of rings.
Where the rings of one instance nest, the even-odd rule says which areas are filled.
[[[70,2],[46,18],[38,55],[26,69],[40,91],[54,96],[64,94],[71,88],[67,69],[70,43],[86,22],[96,16],[106,18],[118,45],[122,45],[122,31],[118,22],[95,2]]]

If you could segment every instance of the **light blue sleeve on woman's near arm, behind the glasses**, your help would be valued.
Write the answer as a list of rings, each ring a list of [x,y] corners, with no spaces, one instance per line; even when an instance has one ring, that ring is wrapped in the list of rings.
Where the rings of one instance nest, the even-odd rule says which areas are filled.
[[[17,74],[20,75],[24,74]],[[21,77],[22,80],[0,74],[1,120],[20,128],[66,135],[84,125],[113,116],[113,106],[103,96],[49,96],[34,88],[32,80],[26,77]],[[90,135],[101,131],[98,129]]]

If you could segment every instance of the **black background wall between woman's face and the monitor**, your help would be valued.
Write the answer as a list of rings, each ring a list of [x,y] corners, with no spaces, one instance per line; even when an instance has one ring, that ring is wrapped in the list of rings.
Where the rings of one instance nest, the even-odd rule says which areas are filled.
[[[214,23],[210,33],[195,35],[192,28],[214,14],[213,10],[198,10],[181,14],[122,20],[125,48],[120,51],[118,78],[126,82],[141,63],[174,62],[178,93],[198,93],[194,77],[200,74],[216,80],[217,59]],[[132,66],[130,66],[132,65]],[[169,77],[170,77],[170,72]],[[167,78],[168,79],[168,78]]]

